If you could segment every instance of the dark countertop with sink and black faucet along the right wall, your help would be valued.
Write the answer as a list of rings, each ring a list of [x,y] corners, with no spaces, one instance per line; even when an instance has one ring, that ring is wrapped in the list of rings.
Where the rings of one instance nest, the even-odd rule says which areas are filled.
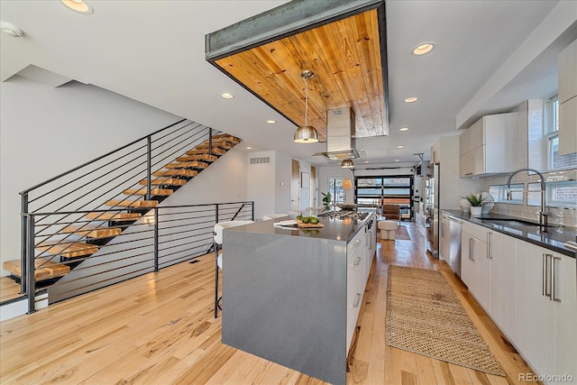
[[[483,214],[481,217],[471,217],[471,214],[463,213],[461,210],[442,209],[441,211],[458,219],[462,219],[463,221],[481,225],[499,233],[507,234],[522,241],[534,243],[538,246],[545,247],[546,249],[553,250],[554,252],[560,252],[564,255],[575,258],[575,252],[573,252],[571,249],[568,249],[563,244],[567,241],[575,241],[575,237],[577,236],[577,229],[575,228],[550,226],[547,227],[547,232],[543,232],[541,227],[537,225],[507,225],[483,222],[483,219],[491,218],[531,222],[527,221],[527,219],[517,218],[515,216],[489,213]]]

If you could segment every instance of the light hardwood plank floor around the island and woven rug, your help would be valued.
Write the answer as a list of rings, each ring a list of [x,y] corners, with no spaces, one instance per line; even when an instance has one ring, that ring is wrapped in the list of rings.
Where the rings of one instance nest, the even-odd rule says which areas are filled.
[[[348,382],[518,383],[518,373],[529,371],[527,364],[449,267],[426,256],[424,234],[404,225],[411,241],[378,244]],[[213,318],[213,258],[208,254],[198,263],[181,263],[5,321],[0,324],[0,383],[325,383],[221,343],[221,318]],[[440,270],[507,377],[386,346],[389,264]]]

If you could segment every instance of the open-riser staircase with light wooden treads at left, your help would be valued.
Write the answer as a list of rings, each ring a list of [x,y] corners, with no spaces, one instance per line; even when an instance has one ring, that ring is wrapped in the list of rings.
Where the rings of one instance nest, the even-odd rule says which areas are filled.
[[[154,150],[151,150],[151,142],[154,141],[151,141],[151,137],[148,137],[148,171],[145,171],[144,174],[150,175],[150,178],[142,179],[141,177],[140,179],[135,179],[136,182],[133,183],[132,187],[123,188],[117,193],[112,193],[116,194],[116,197],[113,199],[105,199],[104,202],[101,201],[99,206],[97,206],[97,203],[91,204],[91,202],[89,202],[91,206],[98,207],[92,212],[90,211],[91,209],[86,211],[86,206],[81,207],[82,210],[78,210],[78,213],[82,212],[81,215],[75,215],[74,211],[55,210],[50,213],[50,215],[52,215],[50,217],[57,215],[59,219],[51,223],[46,223],[47,220],[45,218],[49,216],[46,215],[42,217],[45,224],[41,230],[35,227],[35,225],[38,226],[41,221],[34,224],[32,216],[32,225],[29,224],[28,227],[23,225],[23,231],[26,231],[26,228],[28,228],[28,234],[34,234],[32,239],[34,242],[35,269],[33,271],[36,289],[50,286],[62,277],[68,275],[80,262],[90,258],[91,255],[98,252],[106,243],[114,240],[114,237],[123,234],[128,227],[140,220],[142,215],[146,215],[152,208],[159,206],[160,202],[171,196],[182,186],[185,186],[189,180],[194,179],[198,173],[205,170],[211,163],[218,160],[219,157],[223,156],[227,151],[241,142],[239,138],[232,135],[225,133],[212,134],[212,129],[208,130],[208,139],[204,141],[195,139],[196,142],[194,146],[188,147],[188,151],[176,157],[173,161],[166,163],[158,170],[151,169],[151,153],[154,152]],[[173,135],[177,137],[176,134]],[[179,133],[179,135],[182,135],[182,133]],[[197,135],[197,133],[193,132],[189,136],[192,135]],[[168,134],[166,134],[166,136],[168,136]],[[174,139],[170,139],[170,141],[173,140]],[[169,141],[167,141],[167,143],[168,142]],[[165,145],[165,143],[161,143],[159,147],[162,145]],[[168,144],[165,145],[165,147],[173,145],[174,144]],[[137,150],[140,151],[141,148]],[[172,148],[170,148],[170,150],[172,150]],[[122,156],[124,157],[126,155]],[[110,163],[106,163],[100,170],[108,167],[109,164]],[[139,164],[139,166],[142,166],[142,163]],[[91,179],[92,175],[94,175],[92,174],[93,172],[94,171],[89,171],[85,173],[81,177],[78,177],[78,180],[82,178]],[[106,172],[101,173],[106,175]],[[119,173],[125,175],[122,174],[122,172]],[[89,176],[87,177],[87,175]],[[59,177],[56,179],[58,178]],[[53,179],[50,179],[48,182],[52,180]],[[76,182],[76,180],[77,179],[74,181]],[[116,179],[113,178],[111,180]],[[92,182],[92,180],[90,182]],[[66,182],[64,186],[67,186],[69,183],[72,182]],[[121,183],[119,185],[125,184],[126,183]],[[58,189],[60,189],[60,187],[54,188],[50,193]],[[91,195],[96,195],[95,191],[97,191],[96,188],[91,191]],[[60,191],[60,195],[69,195],[76,192],[76,190],[71,192]],[[28,192],[25,192],[26,197],[27,194]],[[49,193],[45,193],[40,197],[45,197],[48,194]],[[78,195],[80,195],[78,200],[81,200],[85,199],[88,194],[81,195],[78,193]],[[106,191],[105,194],[101,194],[102,197],[110,195],[111,193],[108,191]],[[42,209],[53,205],[55,201],[59,200],[60,197],[45,206],[41,206],[40,209],[36,210],[35,215],[42,215],[42,213],[40,213]],[[28,206],[28,201],[26,201],[25,205],[23,204],[23,207],[24,206]],[[67,203],[65,207],[68,208],[69,206],[70,204]],[[26,212],[25,210],[23,211],[24,213]],[[41,241],[36,242],[37,239],[41,239]],[[25,260],[23,259],[23,261]],[[3,268],[10,272],[11,278],[20,282],[23,277],[22,265],[22,261],[20,260],[5,261]]]

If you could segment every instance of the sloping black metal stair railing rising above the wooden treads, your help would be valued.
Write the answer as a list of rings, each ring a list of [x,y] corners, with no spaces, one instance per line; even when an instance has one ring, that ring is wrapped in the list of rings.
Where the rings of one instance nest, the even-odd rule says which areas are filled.
[[[96,228],[105,227],[102,219],[87,220],[81,218],[83,213],[123,213],[135,212],[143,215],[152,207],[119,206],[125,202],[132,202],[134,197],[137,201],[151,200],[153,180],[159,178],[184,179],[192,176],[157,176],[152,174],[165,169],[163,165],[174,161],[176,157],[186,155],[188,150],[193,150],[198,144],[208,143],[208,153],[213,153],[213,135],[220,133],[202,124],[179,120],[174,124],[143,136],[114,151],[108,151],[104,155],[87,161],[78,167],[60,173],[56,177],[47,179],[32,188],[20,192],[22,197],[22,232],[21,232],[21,264],[22,282],[21,293],[32,294],[34,290],[28,290],[33,281],[28,273],[33,272],[34,262],[37,258],[48,258],[51,261],[52,252],[59,247],[59,252],[67,252],[77,235],[60,230],[65,225],[78,224],[81,230],[91,223],[99,223]],[[142,144],[141,144],[142,143]],[[210,162],[207,162],[210,164]],[[203,170],[197,168],[197,172]],[[143,180],[146,183],[142,183]],[[50,186],[57,183],[57,186]],[[169,183],[169,189],[178,189],[179,185]],[[158,188],[162,187],[161,185]],[[134,191],[128,191],[133,189]],[[125,194],[127,192],[128,194]],[[166,196],[155,196],[155,200],[163,200]],[[114,200],[116,206],[102,208],[107,202]],[[155,215],[158,211],[154,211]],[[129,227],[134,221],[117,221],[123,225],[122,230]],[[158,234],[155,235],[158,237]],[[36,239],[41,242],[36,242]],[[50,243],[48,241],[50,240]],[[35,247],[40,243],[42,252],[35,252]],[[66,243],[66,244],[63,244]],[[157,246],[155,246],[157,247]],[[46,263],[46,262],[44,262]],[[32,287],[32,289],[35,287]]]

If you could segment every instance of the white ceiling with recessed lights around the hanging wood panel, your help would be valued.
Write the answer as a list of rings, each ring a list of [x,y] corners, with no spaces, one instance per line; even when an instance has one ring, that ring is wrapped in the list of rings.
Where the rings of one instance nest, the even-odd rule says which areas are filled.
[[[74,13],[59,1],[0,1],[2,22],[24,32],[0,38],[1,79],[33,65],[60,78],[58,84],[74,79],[232,133],[245,140],[238,147],[327,164],[311,156],[325,143],[294,143],[295,124],[205,59],[207,33],[285,1],[88,1],[94,14]],[[369,164],[416,163],[419,152],[428,159],[439,136],[553,95],[556,55],[577,37],[571,0],[390,0],[386,18],[389,135],[357,139]],[[435,50],[413,55],[423,41],[434,41]],[[417,102],[404,103],[408,96]],[[302,95],[294,97],[302,103]]]

